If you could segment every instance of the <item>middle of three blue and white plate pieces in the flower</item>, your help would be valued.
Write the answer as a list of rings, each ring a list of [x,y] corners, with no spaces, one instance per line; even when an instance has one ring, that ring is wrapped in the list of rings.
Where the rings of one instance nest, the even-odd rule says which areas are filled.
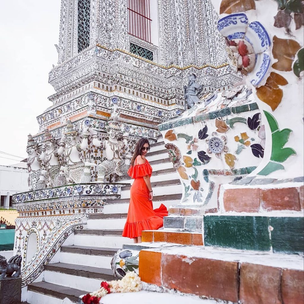
[[[264,52],[270,47],[270,38],[260,22],[250,22],[245,39],[252,45],[255,54]]]

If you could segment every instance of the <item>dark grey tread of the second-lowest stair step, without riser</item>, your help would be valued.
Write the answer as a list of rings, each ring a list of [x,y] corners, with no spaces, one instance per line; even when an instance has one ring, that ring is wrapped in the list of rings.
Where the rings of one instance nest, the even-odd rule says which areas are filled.
[[[78,275],[87,278],[104,278],[105,276],[108,276],[108,277],[113,277],[114,279],[112,269],[78,265],[78,264],[67,264],[67,263],[47,264],[44,265],[44,270],[56,271],[70,275]]]

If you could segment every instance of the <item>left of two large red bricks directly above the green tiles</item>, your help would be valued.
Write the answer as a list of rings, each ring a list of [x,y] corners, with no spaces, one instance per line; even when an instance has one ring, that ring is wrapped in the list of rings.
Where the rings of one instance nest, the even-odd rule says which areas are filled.
[[[226,189],[223,201],[226,211],[258,212],[261,201],[260,189]]]

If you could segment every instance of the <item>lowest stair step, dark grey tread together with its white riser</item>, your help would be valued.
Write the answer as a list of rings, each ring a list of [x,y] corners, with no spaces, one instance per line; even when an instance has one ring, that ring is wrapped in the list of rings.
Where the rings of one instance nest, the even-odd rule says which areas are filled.
[[[30,283],[27,285],[27,302],[29,304],[61,304],[64,298],[78,303],[79,296],[88,293],[48,282]]]

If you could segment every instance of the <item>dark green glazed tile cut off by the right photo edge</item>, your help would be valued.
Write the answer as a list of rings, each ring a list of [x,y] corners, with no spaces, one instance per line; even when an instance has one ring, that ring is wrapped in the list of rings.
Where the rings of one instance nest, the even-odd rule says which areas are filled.
[[[274,252],[303,252],[303,217],[270,217],[271,244]]]

